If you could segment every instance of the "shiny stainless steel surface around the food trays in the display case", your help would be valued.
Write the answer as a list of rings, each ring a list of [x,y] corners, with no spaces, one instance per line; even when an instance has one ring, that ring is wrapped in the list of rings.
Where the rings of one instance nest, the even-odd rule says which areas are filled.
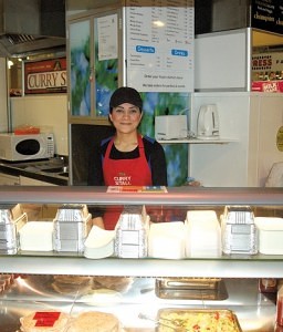
[[[126,292],[69,295],[56,293],[50,287],[51,277],[32,276],[18,278],[0,295],[0,331],[19,330],[19,319],[32,311],[56,309],[76,315],[82,311],[105,311],[114,313],[125,331],[155,331],[155,323],[139,319],[139,313],[156,318],[163,308],[228,309],[239,320],[243,332],[274,331],[275,304],[272,298],[259,293],[256,279],[226,279],[228,299],[208,300],[165,300],[155,293],[154,278],[137,278]]]

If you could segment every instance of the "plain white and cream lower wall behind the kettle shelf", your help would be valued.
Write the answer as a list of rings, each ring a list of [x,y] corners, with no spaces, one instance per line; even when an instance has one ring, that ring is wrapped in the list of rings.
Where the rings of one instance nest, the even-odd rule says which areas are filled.
[[[189,176],[206,187],[264,186],[273,163],[283,162],[276,133],[283,125],[283,94],[230,92],[196,93],[191,129],[197,131],[198,111],[214,103],[220,136],[228,144],[191,144]]]

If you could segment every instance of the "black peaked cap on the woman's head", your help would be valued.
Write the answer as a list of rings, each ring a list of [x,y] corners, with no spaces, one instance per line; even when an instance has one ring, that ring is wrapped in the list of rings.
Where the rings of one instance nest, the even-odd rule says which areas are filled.
[[[117,107],[118,105],[124,103],[129,103],[132,105],[135,105],[139,107],[140,111],[143,108],[142,97],[139,93],[133,87],[128,87],[128,86],[118,87],[111,96],[109,107],[111,108]]]

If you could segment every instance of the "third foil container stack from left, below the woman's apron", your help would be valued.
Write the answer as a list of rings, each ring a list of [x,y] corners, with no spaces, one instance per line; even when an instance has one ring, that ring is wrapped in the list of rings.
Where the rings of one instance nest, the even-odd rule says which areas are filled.
[[[149,217],[145,206],[126,206],[116,225],[115,256],[147,257]]]

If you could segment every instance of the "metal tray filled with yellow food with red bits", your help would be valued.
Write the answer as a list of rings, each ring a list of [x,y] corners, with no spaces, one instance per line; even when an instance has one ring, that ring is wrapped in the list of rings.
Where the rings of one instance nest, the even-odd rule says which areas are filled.
[[[208,328],[209,332],[242,332],[238,318],[231,310],[167,308],[158,311],[158,332],[201,332],[208,331]]]

